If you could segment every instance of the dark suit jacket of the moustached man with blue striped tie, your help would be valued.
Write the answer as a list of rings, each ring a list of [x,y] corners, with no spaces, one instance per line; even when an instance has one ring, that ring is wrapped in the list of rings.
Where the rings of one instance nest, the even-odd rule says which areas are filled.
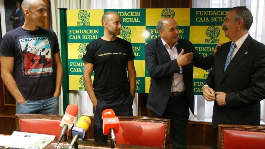
[[[218,49],[205,81],[216,92],[226,93],[226,106],[214,101],[213,127],[220,122],[260,126],[260,101],[265,98],[265,45],[249,35],[223,72],[230,46],[231,41]]]

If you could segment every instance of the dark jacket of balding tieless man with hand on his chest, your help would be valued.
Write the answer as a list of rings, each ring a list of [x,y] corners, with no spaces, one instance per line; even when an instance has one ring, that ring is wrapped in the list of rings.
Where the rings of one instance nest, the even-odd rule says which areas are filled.
[[[178,39],[177,49],[181,48],[184,49],[184,54],[194,53],[192,63],[182,67],[189,107],[194,113],[193,66],[208,70],[212,67],[214,57],[211,54],[204,58],[198,54],[192,43],[185,39]],[[170,96],[173,73],[179,73],[179,66],[176,59],[170,60],[170,55],[164,47],[161,37],[145,45],[145,63],[151,77],[146,107],[161,116]]]

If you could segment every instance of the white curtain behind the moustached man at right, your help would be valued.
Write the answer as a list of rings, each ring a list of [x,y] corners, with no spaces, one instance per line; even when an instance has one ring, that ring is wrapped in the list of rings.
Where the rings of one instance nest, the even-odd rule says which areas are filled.
[[[235,6],[246,6],[253,15],[253,23],[249,29],[249,34],[253,39],[265,44],[265,3],[264,0],[192,0],[192,8],[231,8]],[[198,95],[198,100],[203,97]],[[205,117],[212,117],[213,103],[205,101]],[[204,103],[195,101],[195,109],[198,109],[198,114],[202,114],[201,109],[204,108]],[[265,122],[265,102],[260,102],[261,114],[260,119]],[[197,111],[195,111],[195,115]],[[199,116],[201,117],[201,116]]]

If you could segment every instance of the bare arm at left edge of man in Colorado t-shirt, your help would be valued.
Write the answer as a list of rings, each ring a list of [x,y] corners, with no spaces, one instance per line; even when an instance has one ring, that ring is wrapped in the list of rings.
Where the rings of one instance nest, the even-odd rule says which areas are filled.
[[[26,102],[25,98],[19,91],[17,83],[12,76],[14,69],[14,57],[0,56],[1,62],[1,76],[5,83],[5,86],[11,93],[11,95],[16,99],[17,103],[22,104]]]

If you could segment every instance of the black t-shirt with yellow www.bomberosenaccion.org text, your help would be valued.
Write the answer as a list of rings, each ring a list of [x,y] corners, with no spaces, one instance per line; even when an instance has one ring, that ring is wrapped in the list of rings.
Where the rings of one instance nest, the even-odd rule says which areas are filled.
[[[129,86],[127,64],[134,58],[131,43],[118,37],[114,41],[98,38],[86,46],[82,60],[94,64],[93,87],[98,99],[112,100],[124,94]]]

